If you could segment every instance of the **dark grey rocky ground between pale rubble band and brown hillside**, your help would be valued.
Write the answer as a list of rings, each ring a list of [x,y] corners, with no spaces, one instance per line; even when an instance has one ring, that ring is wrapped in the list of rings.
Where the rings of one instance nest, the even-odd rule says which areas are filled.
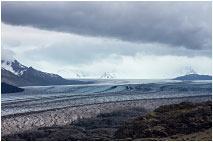
[[[34,131],[3,136],[3,140],[90,141],[112,140],[116,130],[126,122],[147,113],[145,109],[129,109],[100,114],[65,126],[42,127]]]

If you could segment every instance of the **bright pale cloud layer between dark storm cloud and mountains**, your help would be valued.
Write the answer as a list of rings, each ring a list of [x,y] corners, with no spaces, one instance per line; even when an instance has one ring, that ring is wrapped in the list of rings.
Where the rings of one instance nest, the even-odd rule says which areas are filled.
[[[117,78],[136,79],[173,78],[189,69],[211,74],[209,50],[170,48],[164,44],[139,44],[2,24],[2,47],[2,58],[15,55],[26,66],[66,78],[76,77],[76,72],[94,78],[112,72]]]

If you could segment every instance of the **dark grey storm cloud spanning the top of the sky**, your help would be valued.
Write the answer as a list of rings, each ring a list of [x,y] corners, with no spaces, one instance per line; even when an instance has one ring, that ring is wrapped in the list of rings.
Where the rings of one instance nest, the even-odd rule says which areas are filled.
[[[2,21],[211,50],[211,2],[2,2]]]

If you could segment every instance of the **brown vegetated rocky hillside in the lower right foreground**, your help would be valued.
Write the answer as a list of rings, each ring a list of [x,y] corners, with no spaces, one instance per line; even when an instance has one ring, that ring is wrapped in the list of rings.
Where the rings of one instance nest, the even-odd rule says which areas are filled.
[[[212,102],[165,105],[131,120],[116,133],[116,139],[168,138],[212,128]],[[211,138],[211,134],[209,134]],[[142,138],[142,139],[141,139]]]

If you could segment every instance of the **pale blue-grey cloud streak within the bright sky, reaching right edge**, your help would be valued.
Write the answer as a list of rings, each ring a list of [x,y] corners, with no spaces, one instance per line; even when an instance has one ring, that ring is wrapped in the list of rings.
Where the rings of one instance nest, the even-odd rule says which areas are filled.
[[[157,46],[157,47],[155,47]],[[152,49],[152,50],[150,50]],[[121,61],[123,57],[144,56],[207,56],[211,58],[208,50],[173,49],[163,45],[143,45],[131,43],[106,43],[102,45],[86,43],[78,45],[70,42],[58,42],[45,48],[36,48],[23,53],[23,56],[30,60],[50,61],[60,65],[81,66],[101,62],[102,60]]]

